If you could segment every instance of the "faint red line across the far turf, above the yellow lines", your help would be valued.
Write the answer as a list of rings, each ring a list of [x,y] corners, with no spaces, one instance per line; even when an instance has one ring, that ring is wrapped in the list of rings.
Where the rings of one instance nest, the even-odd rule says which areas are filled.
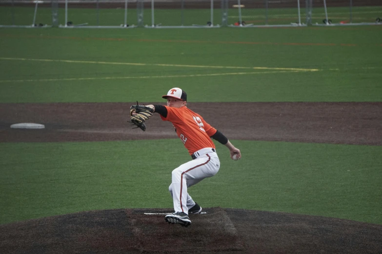
[[[246,44],[246,45],[285,45],[285,46],[359,46],[348,43],[309,43],[309,42],[256,42],[256,41],[202,41],[202,40],[162,40],[162,39],[125,39],[125,38],[102,38],[102,37],[70,37],[70,36],[14,36],[7,37],[27,37],[27,38],[48,38],[48,39],[72,39],[72,40],[105,40],[105,41],[138,41],[138,42],[172,42],[172,43],[219,43],[219,44]]]

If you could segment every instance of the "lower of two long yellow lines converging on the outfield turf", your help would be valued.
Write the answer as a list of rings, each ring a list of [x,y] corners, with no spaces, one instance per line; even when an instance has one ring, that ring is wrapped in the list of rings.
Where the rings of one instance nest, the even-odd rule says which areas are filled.
[[[50,79],[21,79],[21,80],[0,80],[0,83],[10,82],[41,82],[41,81],[76,81],[76,80],[97,80],[97,79],[140,79],[140,78],[177,78],[177,77],[205,77],[224,75],[247,75],[247,74],[268,74],[268,73],[299,73],[301,71],[275,71],[275,72],[253,72],[253,73],[210,73],[210,74],[190,74],[171,76],[136,76],[136,77],[87,77],[87,78],[50,78]]]

